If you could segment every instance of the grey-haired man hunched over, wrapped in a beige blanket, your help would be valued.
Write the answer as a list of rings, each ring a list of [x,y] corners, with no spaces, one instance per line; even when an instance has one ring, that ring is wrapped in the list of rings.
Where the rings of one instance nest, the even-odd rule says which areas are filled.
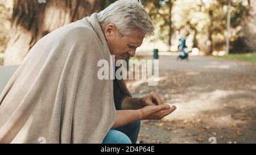
[[[100,80],[97,62],[134,56],[153,30],[139,2],[120,0],[44,36],[0,95],[0,143],[136,143],[139,120],[176,107]]]

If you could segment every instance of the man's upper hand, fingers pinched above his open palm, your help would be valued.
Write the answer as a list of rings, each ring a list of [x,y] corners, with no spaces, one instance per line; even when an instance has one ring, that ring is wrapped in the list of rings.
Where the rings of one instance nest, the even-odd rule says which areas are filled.
[[[145,97],[141,98],[140,100],[141,100],[142,107],[158,106],[158,105],[164,104],[163,100],[155,92],[151,92],[149,95],[146,95]]]

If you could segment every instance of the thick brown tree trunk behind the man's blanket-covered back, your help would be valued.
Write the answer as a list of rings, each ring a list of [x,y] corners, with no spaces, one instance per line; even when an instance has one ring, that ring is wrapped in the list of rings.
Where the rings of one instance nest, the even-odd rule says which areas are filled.
[[[40,3],[42,2],[42,3]],[[4,65],[20,64],[47,33],[104,9],[105,0],[14,0]]]

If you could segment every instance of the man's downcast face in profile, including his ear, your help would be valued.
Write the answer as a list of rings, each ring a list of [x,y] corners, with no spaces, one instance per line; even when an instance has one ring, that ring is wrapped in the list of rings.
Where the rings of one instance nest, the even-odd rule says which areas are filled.
[[[111,55],[115,55],[115,61],[133,57],[145,37],[141,30],[133,31],[130,36],[120,36],[114,24],[109,24],[104,32],[109,51]]]

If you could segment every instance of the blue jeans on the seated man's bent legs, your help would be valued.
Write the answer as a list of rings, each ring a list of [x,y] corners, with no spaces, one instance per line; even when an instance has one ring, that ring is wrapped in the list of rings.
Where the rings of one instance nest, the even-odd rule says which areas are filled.
[[[136,144],[141,121],[137,121],[120,128],[110,129],[102,144]]]

